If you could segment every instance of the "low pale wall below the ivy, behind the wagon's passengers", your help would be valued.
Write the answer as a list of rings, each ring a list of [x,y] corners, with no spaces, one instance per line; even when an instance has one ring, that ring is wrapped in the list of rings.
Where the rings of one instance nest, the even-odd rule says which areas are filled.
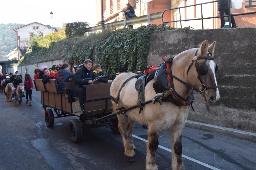
[[[41,69],[41,66],[47,66],[48,68],[50,68],[52,65],[57,65],[57,64],[62,64],[62,63],[64,63],[62,59],[48,60],[45,62],[36,63],[36,68]],[[9,68],[7,68],[7,70],[8,70],[8,73],[12,72],[13,74],[15,74],[15,71],[18,71],[22,75],[22,79],[24,82],[24,78],[25,78],[24,75],[26,73],[28,73],[30,75],[30,77],[32,78],[32,80],[34,80],[34,74],[35,74],[34,70],[36,68],[34,67],[34,64],[29,64],[26,66],[9,67]]]

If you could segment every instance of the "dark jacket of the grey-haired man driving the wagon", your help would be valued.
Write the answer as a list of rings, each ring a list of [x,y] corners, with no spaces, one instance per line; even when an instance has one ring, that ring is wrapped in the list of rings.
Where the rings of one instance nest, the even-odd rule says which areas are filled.
[[[85,69],[87,69],[87,68],[85,68],[83,66],[75,72],[75,76],[74,76],[73,83],[72,83],[73,96],[77,96],[77,89],[79,87],[83,87],[83,85],[89,84],[88,83],[89,79],[84,80],[84,77],[86,76],[85,74],[87,74],[87,73],[85,73]],[[89,71],[89,75],[90,75],[90,78],[99,77],[98,75],[94,74],[92,70]],[[91,80],[93,80],[93,79],[91,79]],[[101,81],[103,83],[108,82],[108,80],[104,79],[104,78],[100,78],[99,81]]]

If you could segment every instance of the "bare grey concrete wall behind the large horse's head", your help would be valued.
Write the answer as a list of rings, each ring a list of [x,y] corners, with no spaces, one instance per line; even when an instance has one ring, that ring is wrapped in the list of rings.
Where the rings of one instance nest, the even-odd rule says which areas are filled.
[[[151,37],[147,65],[158,65],[204,40],[216,41],[220,100],[209,105],[196,97],[188,119],[256,132],[256,28],[163,31]]]

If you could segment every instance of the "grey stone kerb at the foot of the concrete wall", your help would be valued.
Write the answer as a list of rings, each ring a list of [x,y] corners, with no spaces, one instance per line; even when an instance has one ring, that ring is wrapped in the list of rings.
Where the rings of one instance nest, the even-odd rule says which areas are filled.
[[[209,132],[219,133],[221,135],[226,135],[226,136],[230,136],[238,139],[256,142],[256,133],[252,133],[252,132],[246,132],[242,130],[227,128],[227,127],[222,127],[217,125],[210,125],[206,123],[195,122],[192,120],[186,120],[185,126],[200,129],[200,130],[205,130]]]

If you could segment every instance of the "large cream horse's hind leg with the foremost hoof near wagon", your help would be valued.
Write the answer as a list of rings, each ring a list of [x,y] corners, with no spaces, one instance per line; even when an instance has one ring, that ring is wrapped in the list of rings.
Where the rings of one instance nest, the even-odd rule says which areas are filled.
[[[132,162],[134,161],[135,152],[133,150],[133,146],[127,135],[127,129],[126,129],[127,120],[125,120],[125,123],[124,123],[122,115],[118,115],[117,117],[118,117],[118,128],[123,137],[123,142],[124,142],[124,155],[128,161]]]

